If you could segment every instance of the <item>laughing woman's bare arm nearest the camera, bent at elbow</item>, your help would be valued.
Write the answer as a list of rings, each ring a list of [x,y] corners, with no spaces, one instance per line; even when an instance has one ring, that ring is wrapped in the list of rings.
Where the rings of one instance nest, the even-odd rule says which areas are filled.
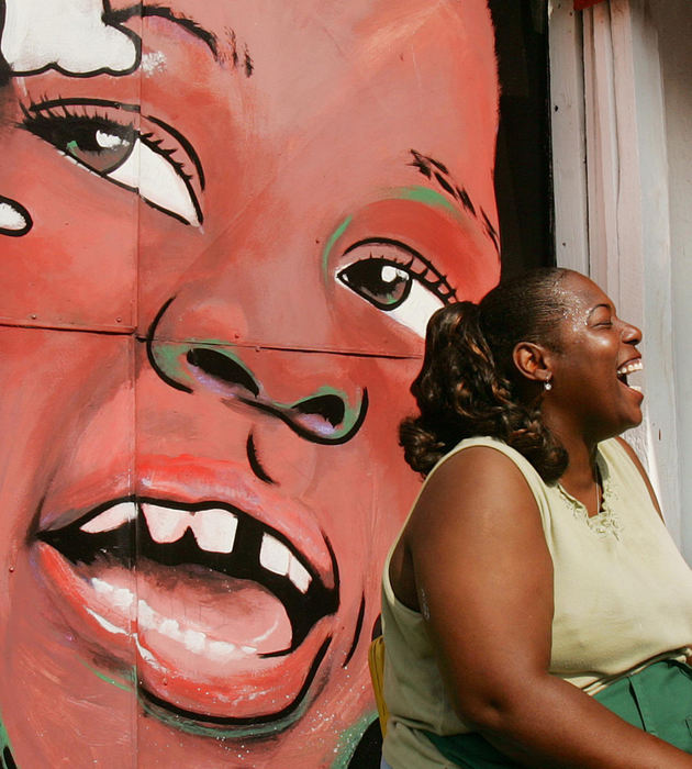
[[[455,707],[498,749],[527,767],[692,769],[692,756],[547,672],[553,564],[534,497],[504,455],[475,447],[445,462],[404,546]]]

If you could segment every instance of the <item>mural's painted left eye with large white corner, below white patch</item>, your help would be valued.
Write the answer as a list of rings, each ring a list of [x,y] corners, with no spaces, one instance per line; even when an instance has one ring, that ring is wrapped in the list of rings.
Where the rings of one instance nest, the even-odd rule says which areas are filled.
[[[185,224],[199,225],[202,213],[191,176],[174,159],[180,148],[172,136],[155,137],[133,123],[120,123],[104,115],[72,114],[69,103],[41,104],[24,110],[23,126],[80,166],[125,189],[133,190],[149,205]],[[88,109],[82,105],[82,109]],[[116,111],[116,105],[111,108]],[[120,116],[120,114],[119,114]],[[157,125],[160,123],[157,121]],[[164,141],[174,147],[165,148]],[[186,145],[190,146],[186,142]],[[182,149],[185,152],[185,149]],[[197,158],[189,158],[192,161]]]

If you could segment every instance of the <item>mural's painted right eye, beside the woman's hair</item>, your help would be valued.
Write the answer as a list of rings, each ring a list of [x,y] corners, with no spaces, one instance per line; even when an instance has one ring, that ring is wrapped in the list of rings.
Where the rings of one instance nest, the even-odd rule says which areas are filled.
[[[435,310],[455,298],[446,278],[403,243],[364,241],[346,254],[359,258],[338,270],[342,283],[420,336]]]

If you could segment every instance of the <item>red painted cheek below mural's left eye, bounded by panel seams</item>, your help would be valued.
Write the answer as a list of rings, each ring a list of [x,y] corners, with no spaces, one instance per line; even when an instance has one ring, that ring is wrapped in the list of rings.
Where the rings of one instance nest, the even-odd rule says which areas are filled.
[[[26,132],[13,131],[5,145],[13,158],[0,160],[5,189],[22,190],[34,225],[23,237],[3,238],[0,270],[8,290],[0,316],[57,326],[131,326],[136,199],[69,166]]]

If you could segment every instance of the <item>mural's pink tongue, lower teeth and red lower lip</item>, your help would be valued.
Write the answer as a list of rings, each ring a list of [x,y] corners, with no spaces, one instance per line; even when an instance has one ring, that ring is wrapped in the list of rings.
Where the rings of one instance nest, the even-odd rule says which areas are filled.
[[[38,554],[85,640],[125,666],[134,653],[142,696],[177,715],[211,724],[281,717],[330,645],[323,616],[293,648],[282,602],[253,580],[147,559],[123,569],[109,556],[75,567],[44,543]]]

